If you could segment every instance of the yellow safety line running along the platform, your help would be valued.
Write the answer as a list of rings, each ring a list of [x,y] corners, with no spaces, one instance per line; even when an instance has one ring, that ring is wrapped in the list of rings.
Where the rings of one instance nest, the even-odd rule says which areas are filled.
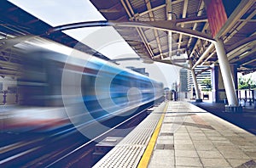
[[[162,122],[164,120],[164,117],[166,115],[167,107],[168,107],[168,102],[166,103],[166,107],[165,107],[165,109],[163,111],[164,113],[161,115],[160,120],[158,121],[158,124],[155,127],[155,129],[154,129],[154,133],[153,133],[152,137],[150,138],[148,146],[147,146],[147,148],[146,148],[146,150],[145,150],[145,152],[143,154],[143,157],[140,160],[139,164],[137,165],[138,168],[145,168],[145,167],[148,166],[148,162],[150,160],[151,154],[152,154],[153,149],[154,149],[154,144],[155,144],[156,139],[158,137],[158,134],[160,132],[160,128],[162,126]]]

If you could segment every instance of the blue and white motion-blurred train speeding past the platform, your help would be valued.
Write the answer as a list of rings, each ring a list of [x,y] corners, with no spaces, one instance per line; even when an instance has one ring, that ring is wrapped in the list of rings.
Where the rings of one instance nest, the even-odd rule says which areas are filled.
[[[18,80],[20,105],[47,107],[43,118],[53,115],[56,123],[68,118],[80,126],[131,116],[141,110],[139,107],[163,98],[162,83],[76,50],[70,55],[35,50],[24,54],[22,62]],[[42,110],[34,109],[32,118],[40,118],[39,114]]]

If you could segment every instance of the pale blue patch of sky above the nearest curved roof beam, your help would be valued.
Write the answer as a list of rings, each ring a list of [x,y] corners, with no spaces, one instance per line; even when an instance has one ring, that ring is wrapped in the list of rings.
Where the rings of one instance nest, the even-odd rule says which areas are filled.
[[[9,0],[9,2],[52,26],[105,20],[89,0]]]

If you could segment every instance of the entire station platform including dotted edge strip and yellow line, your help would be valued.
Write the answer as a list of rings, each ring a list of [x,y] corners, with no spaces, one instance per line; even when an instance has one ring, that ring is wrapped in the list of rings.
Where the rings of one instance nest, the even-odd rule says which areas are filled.
[[[256,136],[189,102],[164,102],[94,167],[256,167]]]

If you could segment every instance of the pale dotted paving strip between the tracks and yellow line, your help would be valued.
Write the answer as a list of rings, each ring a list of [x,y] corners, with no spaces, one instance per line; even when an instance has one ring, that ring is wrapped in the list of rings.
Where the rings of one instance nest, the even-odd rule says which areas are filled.
[[[148,117],[115,146],[93,167],[137,167],[148,141],[160,120],[165,103],[160,104]]]

